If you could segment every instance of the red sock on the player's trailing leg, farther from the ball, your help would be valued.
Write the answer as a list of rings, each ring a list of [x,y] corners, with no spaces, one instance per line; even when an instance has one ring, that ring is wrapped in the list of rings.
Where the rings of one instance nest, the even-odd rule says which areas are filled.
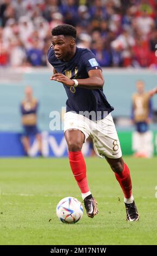
[[[132,196],[132,180],[126,163],[124,163],[122,173],[115,173],[115,176],[122,188],[125,198],[130,198]]]

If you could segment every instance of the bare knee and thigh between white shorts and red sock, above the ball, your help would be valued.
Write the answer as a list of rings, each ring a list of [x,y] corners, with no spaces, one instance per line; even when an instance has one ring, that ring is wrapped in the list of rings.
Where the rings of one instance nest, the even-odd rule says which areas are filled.
[[[66,138],[69,150],[77,151],[82,149],[82,145],[85,140],[85,135],[82,131],[76,129],[66,130],[64,132],[64,136]]]

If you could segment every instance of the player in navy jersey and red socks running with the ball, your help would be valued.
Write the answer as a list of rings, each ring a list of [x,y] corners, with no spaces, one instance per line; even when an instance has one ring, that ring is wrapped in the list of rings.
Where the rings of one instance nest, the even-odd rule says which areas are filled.
[[[91,194],[86,176],[86,163],[81,153],[90,135],[97,155],[105,157],[112,168],[123,194],[127,221],[138,221],[139,214],[132,194],[132,181],[113,118],[113,107],[103,94],[104,78],[95,55],[86,48],[76,47],[76,29],[60,25],[52,30],[49,63],[54,67],[50,80],[62,83],[68,100],[64,115],[64,135],[68,144],[69,161],[74,178],[80,187],[87,215],[93,218],[99,211]]]

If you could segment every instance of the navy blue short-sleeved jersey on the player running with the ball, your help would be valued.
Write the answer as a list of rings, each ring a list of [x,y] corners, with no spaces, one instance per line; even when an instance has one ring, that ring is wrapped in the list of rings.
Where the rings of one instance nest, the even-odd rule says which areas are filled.
[[[94,53],[86,48],[76,47],[74,57],[69,62],[64,62],[55,57],[54,49],[50,47],[48,61],[58,73],[66,75],[70,79],[86,79],[89,77],[89,70],[101,69]],[[103,89],[68,87],[65,84],[63,86],[68,96],[67,112],[73,111],[77,114],[83,114],[89,119],[91,116],[84,114],[84,112],[95,112],[95,120],[100,120],[114,110],[103,94]]]

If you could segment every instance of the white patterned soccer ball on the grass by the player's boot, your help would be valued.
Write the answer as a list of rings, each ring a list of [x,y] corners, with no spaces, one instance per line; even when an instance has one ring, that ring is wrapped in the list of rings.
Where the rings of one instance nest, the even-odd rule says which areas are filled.
[[[82,218],[83,207],[74,197],[65,197],[58,204],[56,214],[63,223],[74,224]]]

